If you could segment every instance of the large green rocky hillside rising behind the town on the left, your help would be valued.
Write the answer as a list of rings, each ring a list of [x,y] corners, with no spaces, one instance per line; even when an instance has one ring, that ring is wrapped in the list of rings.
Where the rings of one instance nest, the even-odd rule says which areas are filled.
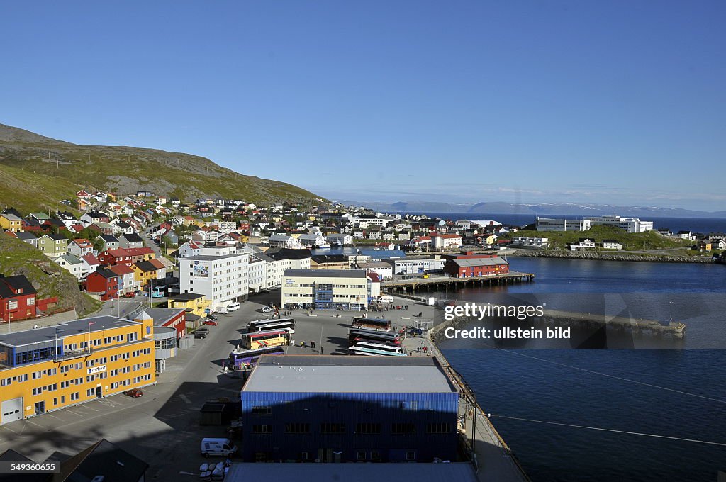
[[[207,158],[127,146],[78,145],[0,124],[0,203],[23,211],[55,210],[82,188],[138,190],[193,202],[203,197],[248,203],[314,203],[285,182],[245,176]]]

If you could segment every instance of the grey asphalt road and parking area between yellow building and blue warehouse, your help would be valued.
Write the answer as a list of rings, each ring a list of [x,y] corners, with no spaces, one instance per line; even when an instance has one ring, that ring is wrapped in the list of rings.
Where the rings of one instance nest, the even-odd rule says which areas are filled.
[[[148,480],[195,480],[203,460],[199,454],[201,439],[226,436],[224,427],[199,425],[199,411],[208,399],[239,394],[242,379],[226,373],[224,362],[239,343],[247,322],[268,317],[261,313],[261,307],[279,303],[279,298],[279,290],[253,295],[238,311],[220,314],[218,326],[207,327],[208,338],[195,340],[192,348],[168,359],[158,383],[145,387],[140,398],[115,395],[0,426],[0,453],[12,448],[42,462],[53,452],[76,453],[106,438],[148,462]],[[418,303],[397,300],[394,305],[405,303],[408,310],[367,315],[391,319],[394,327],[425,319],[412,316],[422,311]],[[309,316],[308,311],[298,310],[290,316],[296,321],[295,345],[287,347],[287,353],[345,354],[351,317],[361,313],[315,311]],[[300,346],[302,341],[305,346]],[[316,348],[311,348],[311,341],[316,342]]]

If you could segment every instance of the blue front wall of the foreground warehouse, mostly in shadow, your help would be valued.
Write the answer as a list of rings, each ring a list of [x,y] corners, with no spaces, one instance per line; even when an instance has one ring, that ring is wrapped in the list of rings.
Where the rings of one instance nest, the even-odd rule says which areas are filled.
[[[245,462],[455,459],[459,394],[242,391]]]

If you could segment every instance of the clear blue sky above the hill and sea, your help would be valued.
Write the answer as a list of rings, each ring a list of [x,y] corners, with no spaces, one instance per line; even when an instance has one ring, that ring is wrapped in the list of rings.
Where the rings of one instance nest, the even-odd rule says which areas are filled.
[[[0,123],[347,200],[726,210],[723,1],[15,2]]]

